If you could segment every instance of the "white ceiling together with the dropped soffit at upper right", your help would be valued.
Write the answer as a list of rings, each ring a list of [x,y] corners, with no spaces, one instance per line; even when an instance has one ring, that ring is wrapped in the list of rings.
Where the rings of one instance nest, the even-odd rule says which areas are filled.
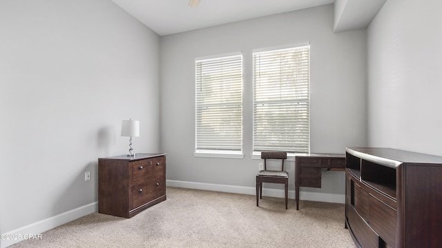
[[[385,0],[200,0],[189,7],[189,0],[112,0],[157,34],[207,28],[271,14],[334,3],[337,16],[334,31],[365,28]]]

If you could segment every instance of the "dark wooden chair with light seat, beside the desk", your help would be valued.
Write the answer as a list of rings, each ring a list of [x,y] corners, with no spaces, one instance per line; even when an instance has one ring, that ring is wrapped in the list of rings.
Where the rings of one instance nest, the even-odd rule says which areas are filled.
[[[258,207],[259,199],[262,199],[262,183],[283,183],[285,184],[285,209],[287,209],[289,173],[284,171],[284,160],[287,159],[287,152],[261,152],[261,158],[264,159],[264,170],[256,175],[256,207]],[[267,159],[282,160],[281,170],[267,170]]]

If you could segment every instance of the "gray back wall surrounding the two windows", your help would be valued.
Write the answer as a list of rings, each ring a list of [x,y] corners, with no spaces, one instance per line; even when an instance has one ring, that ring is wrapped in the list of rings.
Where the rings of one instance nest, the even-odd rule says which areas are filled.
[[[333,14],[328,5],[160,38],[160,139],[168,154],[169,185],[254,194],[260,162],[251,158],[251,50],[256,48],[311,43],[311,152],[344,153],[346,146],[366,145],[366,30],[334,33]],[[244,61],[245,157],[196,158],[194,59],[238,51]],[[287,169],[293,190],[294,161]],[[321,192],[342,202],[343,173],[324,175],[323,189],[302,189],[311,194],[301,198],[318,199]]]

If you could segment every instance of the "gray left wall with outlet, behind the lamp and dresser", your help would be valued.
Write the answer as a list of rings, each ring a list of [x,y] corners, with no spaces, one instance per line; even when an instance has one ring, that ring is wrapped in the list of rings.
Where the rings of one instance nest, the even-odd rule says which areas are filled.
[[[108,0],[0,1],[2,234],[95,203],[122,119],[159,150],[159,42]]]

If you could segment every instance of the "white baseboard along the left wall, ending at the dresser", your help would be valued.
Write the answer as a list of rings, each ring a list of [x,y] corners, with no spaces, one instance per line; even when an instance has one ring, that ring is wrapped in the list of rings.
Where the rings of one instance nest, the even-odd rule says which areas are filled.
[[[72,209],[56,216],[37,221],[36,223],[31,223],[24,227],[19,227],[15,230],[8,231],[1,236],[0,248],[6,248],[10,245],[14,245],[17,242],[32,238],[32,236],[41,234],[44,231],[48,231],[60,225],[66,224],[72,220],[76,220],[77,218],[81,218],[97,211],[98,202],[89,203],[88,205],[77,207],[76,209]],[[44,238],[44,236],[41,236],[41,238]]]

